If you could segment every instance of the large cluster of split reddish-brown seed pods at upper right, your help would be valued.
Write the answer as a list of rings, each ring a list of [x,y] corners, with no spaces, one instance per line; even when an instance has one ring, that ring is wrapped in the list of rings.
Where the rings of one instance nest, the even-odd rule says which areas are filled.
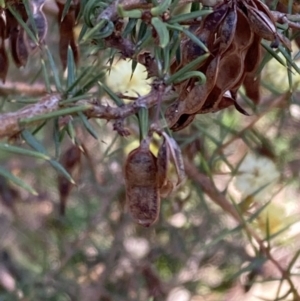
[[[179,95],[166,110],[169,126],[178,131],[190,124],[196,114],[217,112],[231,105],[248,115],[236,102],[241,85],[247,96],[259,101],[255,71],[260,62],[260,42],[266,39],[277,47],[282,43],[291,49],[290,41],[277,32],[269,8],[259,0],[225,0],[214,7],[194,34],[206,45],[210,57],[198,70],[206,75],[206,83],[197,85],[190,78],[175,86]],[[172,72],[205,51],[186,38],[181,43],[182,60],[174,62]]]

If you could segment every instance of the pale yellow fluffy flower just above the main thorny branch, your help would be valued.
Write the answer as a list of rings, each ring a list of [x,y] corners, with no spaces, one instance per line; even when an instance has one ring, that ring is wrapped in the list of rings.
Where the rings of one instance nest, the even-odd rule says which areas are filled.
[[[150,92],[151,79],[147,79],[145,66],[137,64],[132,74],[132,60],[116,59],[107,72],[106,83],[116,93],[126,96],[146,95]]]

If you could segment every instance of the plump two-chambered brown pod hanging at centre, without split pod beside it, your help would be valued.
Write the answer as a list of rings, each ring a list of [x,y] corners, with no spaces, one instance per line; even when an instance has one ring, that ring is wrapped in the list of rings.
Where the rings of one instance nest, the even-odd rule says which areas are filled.
[[[157,182],[157,163],[149,150],[149,140],[133,150],[125,163],[126,199],[134,221],[151,226],[158,218],[160,195]]]

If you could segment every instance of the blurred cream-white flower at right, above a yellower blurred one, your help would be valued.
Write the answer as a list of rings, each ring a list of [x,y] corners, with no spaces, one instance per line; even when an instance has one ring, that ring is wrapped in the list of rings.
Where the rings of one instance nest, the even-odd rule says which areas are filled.
[[[235,186],[243,198],[261,200],[278,181],[280,174],[274,162],[266,157],[248,153],[238,167]]]

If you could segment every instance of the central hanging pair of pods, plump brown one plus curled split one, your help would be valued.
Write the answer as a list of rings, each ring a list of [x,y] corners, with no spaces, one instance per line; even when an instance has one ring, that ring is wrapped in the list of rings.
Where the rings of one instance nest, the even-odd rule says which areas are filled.
[[[163,137],[157,158],[149,149],[153,132]],[[168,179],[170,161],[176,169],[175,184]],[[161,196],[168,196],[185,178],[181,150],[173,138],[153,125],[149,136],[129,153],[124,173],[129,212],[136,223],[149,227],[158,219]]]

